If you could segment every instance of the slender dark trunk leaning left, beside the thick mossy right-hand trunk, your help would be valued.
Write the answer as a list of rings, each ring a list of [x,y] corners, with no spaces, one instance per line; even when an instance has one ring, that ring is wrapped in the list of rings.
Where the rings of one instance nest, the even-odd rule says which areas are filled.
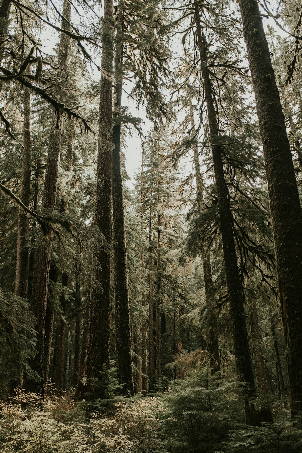
[[[231,329],[238,376],[249,386],[248,393],[255,393],[255,383],[250,358],[248,333],[245,323],[245,312],[240,276],[237,265],[236,248],[234,242],[232,215],[229,204],[229,193],[224,178],[222,162],[222,147],[218,141],[218,123],[214,108],[214,93],[207,66],[206,42],[202,34],[198,3],[195,2],[195,21],[198,39],[198,49],[201,60],[204,94],[208,110],[208,123],[212,143],[214,174],[216,180],[218,209],[220,216],[220,230],[222,235],[223,255],[227,275],[227,290],[231,312]]]

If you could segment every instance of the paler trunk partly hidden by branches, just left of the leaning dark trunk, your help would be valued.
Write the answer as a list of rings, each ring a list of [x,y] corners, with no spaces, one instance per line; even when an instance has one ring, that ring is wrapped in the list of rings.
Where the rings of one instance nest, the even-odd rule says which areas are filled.
[[[194,127],[194,117],[193,117],[193,106],[192,101],[190,100],[190,120],[191,120],[191,130],[195,134]],[[197,202],[198,207],[201,210],[204,209],[203,202],[203,178],[200,173],[199,157],[198,157],[198,147],[197,144],[193,145],[193,162],[195,169],[195,180],[196,180],[196,192],[197,192]],[[203,280],[204,280],[204,292],[207,300],[208,289],[213,285],[212,279],[212,266],[211,266],[211,257],[209,251],[203,255]],[[211,356],[211,374],[213,375],[216,371],[220,370],[220,356],[219,356],[219,343],[218,343],[218,323],[217,323],[218,313],[217,310],[214,312],[212,308],[212,313],[210,316],[208,324],[208,352]]]

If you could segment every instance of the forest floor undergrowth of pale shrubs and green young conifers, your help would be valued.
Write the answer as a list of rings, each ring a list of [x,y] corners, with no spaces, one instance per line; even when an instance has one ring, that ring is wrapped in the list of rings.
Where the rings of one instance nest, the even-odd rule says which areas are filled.
[[[302,423],[290,422],[286,402],[272,403],[274,424],[245,426],[234,381],[198,383],[196,374],[164,394],[94,403],[16,391],[0,406],[0,453],[302,452]]]

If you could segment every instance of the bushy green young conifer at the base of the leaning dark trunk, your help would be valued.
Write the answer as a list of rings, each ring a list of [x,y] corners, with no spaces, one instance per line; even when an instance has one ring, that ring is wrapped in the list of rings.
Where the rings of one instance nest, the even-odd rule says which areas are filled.
[[[160,438],[169,440],[173,453],[213,452],[244,423],[236,382],[211,376],[208,366],[175,381],[163,402]]]

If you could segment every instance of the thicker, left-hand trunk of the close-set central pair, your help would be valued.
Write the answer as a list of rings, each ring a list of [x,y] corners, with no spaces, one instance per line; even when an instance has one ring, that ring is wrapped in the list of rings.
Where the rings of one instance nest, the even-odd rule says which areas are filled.
[[[112,201],[112,66],[113,66],[113,0],[104,0],[102,35],[102,68],[99,95],[99,141],[97,187],[94,224],[104,235],[107,247],[111,244]],[[89,346],[87,352],[87,383],[97,394],[91,378],[100,378],[104,366],[109,366],[110,311],[110,251],[95,249],[96,265],[90,300]],[[103,396],[103,395],[100,395]]]

